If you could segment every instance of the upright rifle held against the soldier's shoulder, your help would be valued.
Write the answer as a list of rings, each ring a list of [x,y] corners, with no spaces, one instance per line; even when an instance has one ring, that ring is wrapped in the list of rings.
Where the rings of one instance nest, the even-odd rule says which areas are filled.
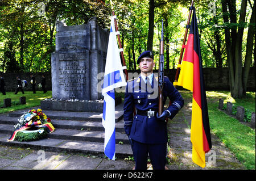
[[[163,112],[163,85],[164,85],[164,41],[163,41],[163,19],[160,40],[160,57],[158,69],[158,114]]]

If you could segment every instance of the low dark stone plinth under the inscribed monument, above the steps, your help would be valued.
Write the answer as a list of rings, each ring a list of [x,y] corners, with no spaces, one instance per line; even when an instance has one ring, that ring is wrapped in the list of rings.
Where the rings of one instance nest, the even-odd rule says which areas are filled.
[[[115,106],[122,103],[121,96],[115,98]],[[73,111],[73,112],[103,112],[104,100],[56,100],[41,101],[42,110]]]

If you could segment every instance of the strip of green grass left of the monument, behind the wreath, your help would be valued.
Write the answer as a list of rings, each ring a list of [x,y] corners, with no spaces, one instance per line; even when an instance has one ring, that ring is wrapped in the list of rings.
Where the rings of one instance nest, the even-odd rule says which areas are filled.
[[[21,96],[26,96],[26,104],[19,104],[19,98]],[[52,97],[52,91],[47,91],[46,94],[43,94],[43,91],[36,91],[36,94],[33,94],[32,91],[25,91],[25,94],[18,92],[6,92],[6,95],[0,94],[0,113],[11,112],[15,110],[21,110],[23,108],[40,106],[41,100]],[[3,107],[3,99],[11,98],[11,107]]]

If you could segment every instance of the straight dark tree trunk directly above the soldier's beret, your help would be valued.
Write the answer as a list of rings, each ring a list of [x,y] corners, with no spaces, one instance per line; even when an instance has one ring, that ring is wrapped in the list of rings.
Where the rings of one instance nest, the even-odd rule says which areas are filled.
[[[153,37],[154,37],[154,19],[155,19],[155,1],[149,2],[149,15],[148,15],[148,36],[147,36],[147,50],[153,50]]]

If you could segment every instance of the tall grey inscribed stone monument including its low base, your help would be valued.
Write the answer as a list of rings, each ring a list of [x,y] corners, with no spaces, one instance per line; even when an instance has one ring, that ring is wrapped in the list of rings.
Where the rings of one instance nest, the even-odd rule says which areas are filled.
[[[101,112],[103,96],[98,91],[104,73],[109,30],[97,24],[66,26],[56,22],[56,49],[51,56],[52,99],[41,102],[43,110]],[[103,77],[102,77],[103,78]]]

